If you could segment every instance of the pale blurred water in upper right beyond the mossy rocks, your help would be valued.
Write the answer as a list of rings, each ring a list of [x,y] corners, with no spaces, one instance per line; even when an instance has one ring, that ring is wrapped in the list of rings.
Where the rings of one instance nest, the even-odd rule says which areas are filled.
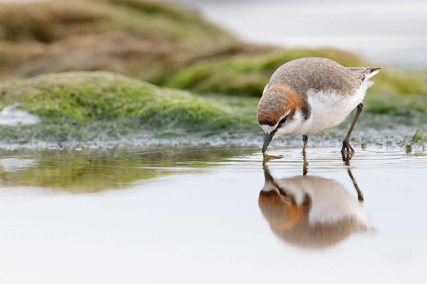
[[[192,1],[203,16],[254,43],[332,47],[381,66],[425,68],[425,1]]]

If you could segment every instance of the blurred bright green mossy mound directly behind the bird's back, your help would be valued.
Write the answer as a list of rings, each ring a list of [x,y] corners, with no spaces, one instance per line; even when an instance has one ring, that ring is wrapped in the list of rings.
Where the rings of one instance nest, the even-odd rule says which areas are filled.
[[[209,60],[180,70],[171,76],[152,79],[153,83],[192,92],[220,92],[230,95],[260,97],[269,77],[284,63],[302,57],[325,57],[343,66],[369,65],[360,57],[333,49],[294,49],[267,55],[244,55],[222,60]],[[418,78],[381,70],[374,77],[376,86],[370,92],[425,94],[427,89]]]

